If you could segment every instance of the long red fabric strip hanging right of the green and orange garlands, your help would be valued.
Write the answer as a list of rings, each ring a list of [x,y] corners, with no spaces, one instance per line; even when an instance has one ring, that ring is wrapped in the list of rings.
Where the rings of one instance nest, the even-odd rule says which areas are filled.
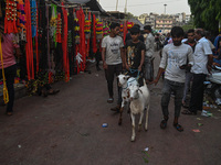
[[[62,2],[62,6],[64,3]],[[63,61],[64,61],[64,70],[65,70],[65,81],[70,80],[70,63],[69,63],[69,56],[67,56],[67,10],[62,8],[63,16],[64,16],[64,24],[63,24]]]

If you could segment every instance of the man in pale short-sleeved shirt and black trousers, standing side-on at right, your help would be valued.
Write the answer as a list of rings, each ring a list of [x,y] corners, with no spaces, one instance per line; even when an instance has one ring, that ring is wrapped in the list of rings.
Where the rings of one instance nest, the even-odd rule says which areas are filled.
[[[194,37],[198,43],[193,53],[194,65],[191,68],[191,73],[193,73],[191,99],[189,109],[183,110],[182,114],[197,114],[198,110],[202,111],[203,81],[212,67],[212,51],[208,40],[203,35],[203,30],[198,29],[194,31]]]

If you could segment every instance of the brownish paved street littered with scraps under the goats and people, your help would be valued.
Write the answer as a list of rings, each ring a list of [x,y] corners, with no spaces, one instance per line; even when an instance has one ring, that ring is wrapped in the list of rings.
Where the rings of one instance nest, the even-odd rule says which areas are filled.
[[[155,53],[155,76],[159,66]],[[102,67],[102,64],[101,64]],[[125,109],[123,124],[109,109],[104,70],[95,64],[73,76],[70,82],[53,85],[61,91],[46,98],[23,97],[14,102],[14,114],[6,117],[0,107],[0,165],[218,165],[221,162],[221,111],[209,109],[213,117],[180,114],[183,132],[173,125],[173,98],[166,130],[160,99],[162,79],[148,86],[150,96],[149,127],[138,132],[130,142],[130,116]],[[116,86],[116,82],[115,82]],[[116,87],[115,87],[116,89]],[[103,128],[107,123],[107,128]],[[203,125],[199,125],[199,123]],[[144,122],[143,122],[144,125]],[[193,132],[199,130],[200,132]],[[146,152],[143,151],[148,147]],[[145,162],[148,160],[148,163]]]

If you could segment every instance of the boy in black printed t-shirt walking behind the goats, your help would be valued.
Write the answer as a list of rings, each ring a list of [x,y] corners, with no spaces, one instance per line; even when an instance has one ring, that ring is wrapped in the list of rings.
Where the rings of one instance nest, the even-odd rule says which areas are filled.
[[[131,40],[128,40],[125,45],[125,66],[128,75],[138,79],[139,86],[143,81],[143,65],[145,61],[145,44],[138,38],[140,30],[136,26],[130,29]]]

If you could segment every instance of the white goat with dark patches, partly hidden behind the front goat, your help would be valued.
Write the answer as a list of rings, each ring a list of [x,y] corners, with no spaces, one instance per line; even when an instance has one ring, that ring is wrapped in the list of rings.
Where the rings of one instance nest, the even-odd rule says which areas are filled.
[[[138,85],[136,78],[134,77],[129,77],[126,75],[118,75],[118,86],[122,87],[122,106],[120,106],[120,110],[119,110],[119,121],[118,124],[122,124],[122,113],[124,111],[124,106],[126,105],[126,102],[129,102],[129,86],[136,86]]]

